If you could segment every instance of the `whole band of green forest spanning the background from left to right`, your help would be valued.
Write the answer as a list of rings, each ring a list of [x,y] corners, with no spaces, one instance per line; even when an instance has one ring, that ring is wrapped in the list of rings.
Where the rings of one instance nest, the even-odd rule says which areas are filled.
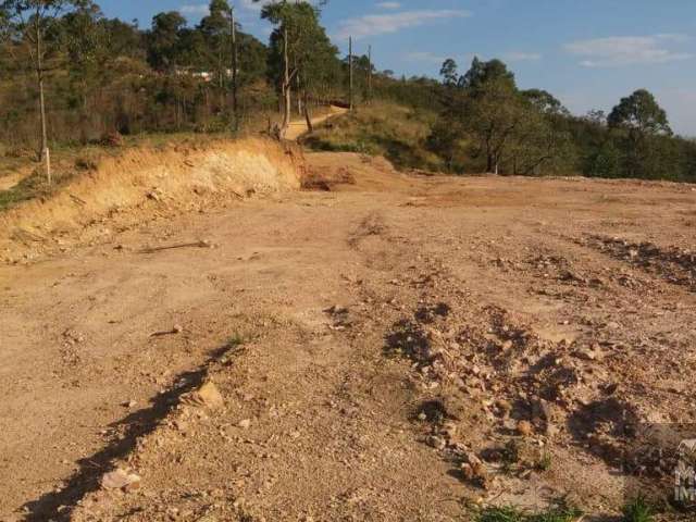
[[[453,60],[440,78],[396,78],[366,55],[341,57],[304,1],[265,4],[268,42],[244,33],[227,0],[190,26],[176,11],[150,27],[107,18],[89,0],[0,0],[0,154],[121,135],[228,132],[349,99],[390,100],[438,116],[422,147],[452,173],[582,174],[696,181],[696,144],[673,135],[654,96],[572,115],[520,89],[499,60]],[[352,63],[352,74],[350,64]],[[352,80],[351,80],[352,77]],[[38,122],[38,123],[37,123]]]

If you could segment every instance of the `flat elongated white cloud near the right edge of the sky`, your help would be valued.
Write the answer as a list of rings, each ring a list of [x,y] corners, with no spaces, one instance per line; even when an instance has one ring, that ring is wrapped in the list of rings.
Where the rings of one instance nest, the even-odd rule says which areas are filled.
[[[688,60],[693,54],[674,49],[687,41],[686,35],[610,36],[568,44],[566,50],[584,58],[585,67],[612,67],[633,64],[667,63]]]

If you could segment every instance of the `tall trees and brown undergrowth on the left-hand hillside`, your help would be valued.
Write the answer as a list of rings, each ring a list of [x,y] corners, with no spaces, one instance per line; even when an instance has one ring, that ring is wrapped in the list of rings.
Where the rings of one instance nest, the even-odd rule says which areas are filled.
[[[0,144],[233,130],[285,103],[308,114],[347,99],[348,62],[319,16],[308,2],[265,5],[266,45],[241,30],[227,0],[212,0],[196,26],[170,11],[147,29],[107,18],[89,0],[0,0]],[[355,60],[359,95],[365,60]]]

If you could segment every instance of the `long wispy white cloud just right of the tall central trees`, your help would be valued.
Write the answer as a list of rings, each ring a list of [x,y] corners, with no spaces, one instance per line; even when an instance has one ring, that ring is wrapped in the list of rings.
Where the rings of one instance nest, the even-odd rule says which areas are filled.
[[[417,27],[436,20],[463,18],[467,16],[471,16],[469,11],[451,9],[402,11],[393,14],[366,14],[344,21],[340,24],[336,37],[346,39],[352,36],[359,39],[368,36],[397,33],[401,29]]]

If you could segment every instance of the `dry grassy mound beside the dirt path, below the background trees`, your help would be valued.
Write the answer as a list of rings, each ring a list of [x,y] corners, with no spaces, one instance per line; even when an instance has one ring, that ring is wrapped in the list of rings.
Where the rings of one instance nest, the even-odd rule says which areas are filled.
[[[314,150],[383,156],[397,169],[442,171],[443,161],[425,148],[437,115],[375,102],[331,120],[302,142]]]

